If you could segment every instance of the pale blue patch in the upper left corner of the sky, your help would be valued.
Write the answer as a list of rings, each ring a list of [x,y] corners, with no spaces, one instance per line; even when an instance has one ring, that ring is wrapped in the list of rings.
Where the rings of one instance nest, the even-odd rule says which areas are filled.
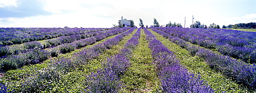
[[[14,1],[13,1],[14,2]],[[0,17],[29,17],[38,15],[50,15],[50,12],[44,10],[44,3],[42,1],[34,0],[20,0],[15,1],[13,5],[6,3],[4,7],[0,7]],[[15,5],[16,4],[16,5]],[[8,7],[7,7],[8,6]]]

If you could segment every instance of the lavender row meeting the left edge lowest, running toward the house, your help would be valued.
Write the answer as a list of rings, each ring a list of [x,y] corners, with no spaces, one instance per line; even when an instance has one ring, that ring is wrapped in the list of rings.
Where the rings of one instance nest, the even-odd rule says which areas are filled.
[[[16,69],[28,64],[37,64],[44,60],[47,60],[50,56],[56,57],[60,53],[65,54],[65,53],[74,51],[75,49],[85,47],[86,45],[90,45],[106,37],[122,33],[128,29],[130,28],[109,30],[109,31],[106,31],[105,33],[100,33],[99,35],[96,35],[91,38],[80,39],[72,43],[65,43],[65,44],[59,45],[48,51],[42,50],[42,49],[32,49],[32,50],[28,50],[25,53],[12,55],[12,56],[3,58],[0,61],[1,70]]]

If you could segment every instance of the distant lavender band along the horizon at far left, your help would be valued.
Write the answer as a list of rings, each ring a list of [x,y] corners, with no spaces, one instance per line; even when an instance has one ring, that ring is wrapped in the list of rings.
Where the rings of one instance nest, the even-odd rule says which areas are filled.
[[[82,34],[94,31],[103,31],[108,29],[101,28],[0,28],[0,47],[51,39],[59,36],[68,36]]]

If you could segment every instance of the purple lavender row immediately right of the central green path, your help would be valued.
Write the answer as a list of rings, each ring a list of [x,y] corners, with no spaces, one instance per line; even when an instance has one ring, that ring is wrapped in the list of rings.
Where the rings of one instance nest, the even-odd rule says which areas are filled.
[[[200,80],[200,76],[189,73],[180,65],[173,52],[169,51],[155,36],[145,29],[146,39],[159,71],[159,78],[164,92],[214,92],[208,84]]]

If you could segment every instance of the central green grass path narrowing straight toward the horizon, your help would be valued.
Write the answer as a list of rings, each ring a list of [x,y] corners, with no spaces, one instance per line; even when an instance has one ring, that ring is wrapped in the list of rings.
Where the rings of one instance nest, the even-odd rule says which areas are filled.
[[[148,48],[146,35],[141,29],[139,44],[133,51],[130,67],[121,76],[124,86],[122,92],[156,92],[159,91],[159,79],[156,66],[152,62],[151,49]]]

